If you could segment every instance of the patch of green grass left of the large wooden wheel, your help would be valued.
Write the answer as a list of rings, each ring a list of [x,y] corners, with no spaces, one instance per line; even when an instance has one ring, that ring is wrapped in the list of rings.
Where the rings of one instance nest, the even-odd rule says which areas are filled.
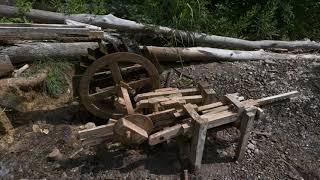
[[[46,80],[42,83],[42,92],[51,96],[58,97],[63,94],[67,87],[67,72],[70,71],[72,63],[67,60],[56,60],[44,58],[37,61],[24,73],[24,76],[32,76],[41,69],[48,68],[49,73]]]

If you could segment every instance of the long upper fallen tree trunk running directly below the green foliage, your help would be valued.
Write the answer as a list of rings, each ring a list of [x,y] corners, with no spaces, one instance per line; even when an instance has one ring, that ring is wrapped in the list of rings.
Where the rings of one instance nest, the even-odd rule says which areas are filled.
[[[66,19],[74,21],[93,24],[105,29],[117,29],[125,32],[142,32],[147,34],[162,34],[166,36],[175,35],[178,38],[188,42],[195,42],[196,44],[207,45],[212,47],[222,46],[227,48],[239,49],[320,49],[320,43],[314,41],[248,41],[243,39],[223,37],[216,35],[207,35],[204,33],[192,33],[187,31],[175,30],[168,27],[161,27],[155,25],[144,25],[135,21],[121,19],[108,15],[91,15],[91,14],[73,14],[64,15],[62,13],[55,13],[43,10],[32,9],[30,12],[24,14],[34,22],[42,23],[64,23]],[[17,17],[19,16],[18,8],[14,6],[0,5],[0,16]]]

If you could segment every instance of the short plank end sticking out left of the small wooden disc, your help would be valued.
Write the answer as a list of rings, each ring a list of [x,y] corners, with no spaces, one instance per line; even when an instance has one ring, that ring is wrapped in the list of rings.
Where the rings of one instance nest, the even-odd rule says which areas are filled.
[[[80,139],[92,139],[97,137],[106,137],[113,135],[114,123],[97,126],[91,129],[85,129],[78,132]]]

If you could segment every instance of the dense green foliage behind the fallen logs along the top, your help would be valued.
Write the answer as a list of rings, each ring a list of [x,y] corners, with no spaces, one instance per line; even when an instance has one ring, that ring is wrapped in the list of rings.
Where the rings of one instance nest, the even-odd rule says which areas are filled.
[[[43,0],[17,0],[21,12]],[[320,40],[319,0],[50,0],[59,12],[108,14],[142,23],[245,39]],[[179,41],[178,37],[173,37]],[[176,42],[177,43],[177,42]]]

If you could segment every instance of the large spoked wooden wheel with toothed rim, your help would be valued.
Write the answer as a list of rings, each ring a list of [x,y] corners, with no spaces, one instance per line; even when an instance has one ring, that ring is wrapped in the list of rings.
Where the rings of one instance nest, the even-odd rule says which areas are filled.
[[[102,119],[119,117],[125,113],[119,112],[114,102],[124,86],[132,96],[142,90],[159,88],[156,67],[148,59],[134,53],[105,55],[86,69],[80,80],[79,95],[84,107],[93,115]],[[125,101],[130,99],[125,98]]]

